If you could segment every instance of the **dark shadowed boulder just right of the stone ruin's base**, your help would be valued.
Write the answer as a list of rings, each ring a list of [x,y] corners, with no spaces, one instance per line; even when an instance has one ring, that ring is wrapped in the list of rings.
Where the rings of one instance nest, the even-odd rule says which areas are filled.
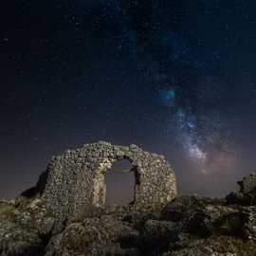
[[[231,214],[236,212],[239,209],[225,205],[224,200],[185,195],[169,203],[162,210],[161,217],[181,222],[183,230],[207,237],[214,233],[233,233],[236,225],[231,225],[232,222],[229,223],[227,219],[232,219]]]

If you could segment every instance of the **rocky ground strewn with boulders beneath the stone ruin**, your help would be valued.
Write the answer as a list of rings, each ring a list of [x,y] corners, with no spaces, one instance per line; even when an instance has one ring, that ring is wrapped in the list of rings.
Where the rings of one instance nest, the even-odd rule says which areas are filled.
[[[177,197],[161,212],[92,210],[61,230],[44,199],[1,200],[0,255],[255,256],[256,174],[239,185],[224,199]]]

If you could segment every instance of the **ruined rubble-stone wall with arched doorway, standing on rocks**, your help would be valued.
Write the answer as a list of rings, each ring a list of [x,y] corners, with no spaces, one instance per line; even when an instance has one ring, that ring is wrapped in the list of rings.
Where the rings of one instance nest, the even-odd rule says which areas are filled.
[[[145,152],[136,145],[116,146],[100,141],[52,158],[43,192],[46,208],[63,219],[92,207],[107,207],[105,174],[122,159],[132,164],[130,171],[136,177],[130,209],[160,210],[176,196],[174,172],[164,156]]]

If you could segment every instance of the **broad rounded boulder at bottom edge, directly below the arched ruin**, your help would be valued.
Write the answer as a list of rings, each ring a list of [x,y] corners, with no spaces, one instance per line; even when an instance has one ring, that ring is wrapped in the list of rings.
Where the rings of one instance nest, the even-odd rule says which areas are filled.
[[[137,255],[137,238],[137,230],[111,216],[87,218],[54,236],[46,247],[46,256]]]

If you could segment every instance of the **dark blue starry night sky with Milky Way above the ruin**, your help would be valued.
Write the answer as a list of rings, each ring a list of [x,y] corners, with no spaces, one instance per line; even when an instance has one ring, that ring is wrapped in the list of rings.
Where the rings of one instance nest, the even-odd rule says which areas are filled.
[[[0,196],[85,142],[165,155],[180,193],[256,168],[253,0],[13,0],[0,9]]]

